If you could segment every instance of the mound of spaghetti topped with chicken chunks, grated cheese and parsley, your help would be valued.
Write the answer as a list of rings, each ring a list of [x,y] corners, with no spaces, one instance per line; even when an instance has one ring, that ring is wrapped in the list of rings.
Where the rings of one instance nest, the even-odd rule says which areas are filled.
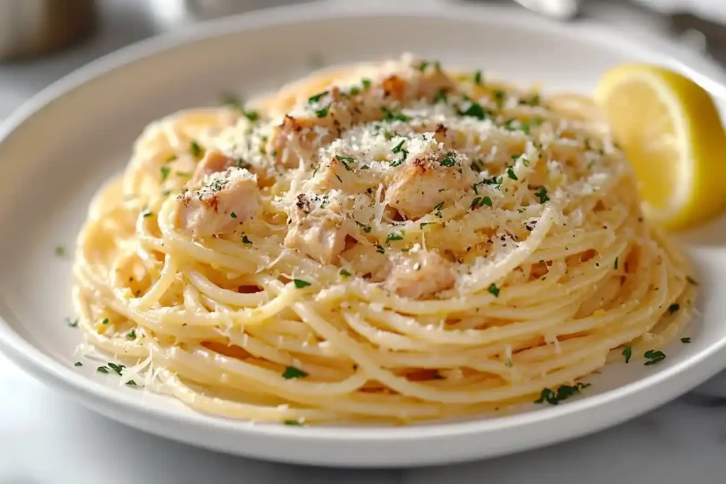
[[[123,382],[255,421],[449,419],[690,319],[587,99],[404,57],[251,105],[152,123],[91,203],[74,301]]]

